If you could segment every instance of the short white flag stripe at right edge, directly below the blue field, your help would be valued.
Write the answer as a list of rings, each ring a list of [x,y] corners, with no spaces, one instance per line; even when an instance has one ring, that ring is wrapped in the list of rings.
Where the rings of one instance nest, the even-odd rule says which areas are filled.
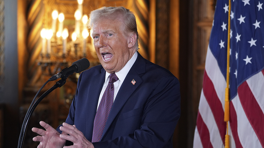
[[[256,98],[256,101],[258,102],[258,105],[260,106],[262,112],[264,112],[264,76],[262,72],[260,71],[256,75],[250,77],[247,80],[247,83],[254,97]]]

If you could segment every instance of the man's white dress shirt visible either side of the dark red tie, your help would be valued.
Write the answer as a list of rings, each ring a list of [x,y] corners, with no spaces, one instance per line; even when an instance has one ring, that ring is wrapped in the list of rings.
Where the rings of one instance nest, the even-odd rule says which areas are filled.
[[[114,82],[114,90],[115,90],[114,91],[114,101],[115,101],[115,97],[116,97],[117,92],[119,91],[122,83],[125,80],[126,75],[128,74],[130,68],[135,63],[137,57],[138,57],[138,52],[135,52],[134,55],[131,57],[131,59],[126,63],[126,65],[119,72],[115,73],[116,76],[119,78],[119,80]],[[100,104],[100,101],[102,99],[103,93],[105,92],[105,89],[106,89],[106,87],[108,85],[108,82],[109,82],[109,79],[110,79],[109,75],[110,75],[110,73],[108,73],[108,72],[105,73],[105,82],[103,84],[103,88],[102,88],[102,91],[101,91],[100,96],[99,96],[97,109],[99,107],[99,104]]]

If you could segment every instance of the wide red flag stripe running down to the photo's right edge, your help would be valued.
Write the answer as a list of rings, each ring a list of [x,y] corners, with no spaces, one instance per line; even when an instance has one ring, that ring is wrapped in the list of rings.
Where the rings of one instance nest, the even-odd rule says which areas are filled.
[[[238,96],[251,126],[264,147],[264,114],[246,81],[238,87]]]

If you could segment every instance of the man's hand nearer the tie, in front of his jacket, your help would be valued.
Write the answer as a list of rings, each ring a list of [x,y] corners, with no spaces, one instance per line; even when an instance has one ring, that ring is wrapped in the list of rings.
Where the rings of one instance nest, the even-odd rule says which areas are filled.
[[[64,148],[94,148],[93,144],[85,138],[75,125],[69,125],[65,122],[62,125],[60,130],[69,135],[61,134],[60,138],[73,142],[73,146],[65,146]]]

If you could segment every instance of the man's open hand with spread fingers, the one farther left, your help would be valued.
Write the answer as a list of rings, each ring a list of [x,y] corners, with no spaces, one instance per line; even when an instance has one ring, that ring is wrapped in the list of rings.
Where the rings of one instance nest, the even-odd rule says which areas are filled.
[[[60,138],[60,133],[53,127],[46,124],[44,121],[40,121],[39,124],[46,129],[32,128],[32,131],[41,135],[33,138],[33,141],[39,141],[40,144],[37,148],[62,148],[65,145],[66,140]],[[62,135],[66,133],[62,132]],[[66,134],[67,135],[67,134]]]

